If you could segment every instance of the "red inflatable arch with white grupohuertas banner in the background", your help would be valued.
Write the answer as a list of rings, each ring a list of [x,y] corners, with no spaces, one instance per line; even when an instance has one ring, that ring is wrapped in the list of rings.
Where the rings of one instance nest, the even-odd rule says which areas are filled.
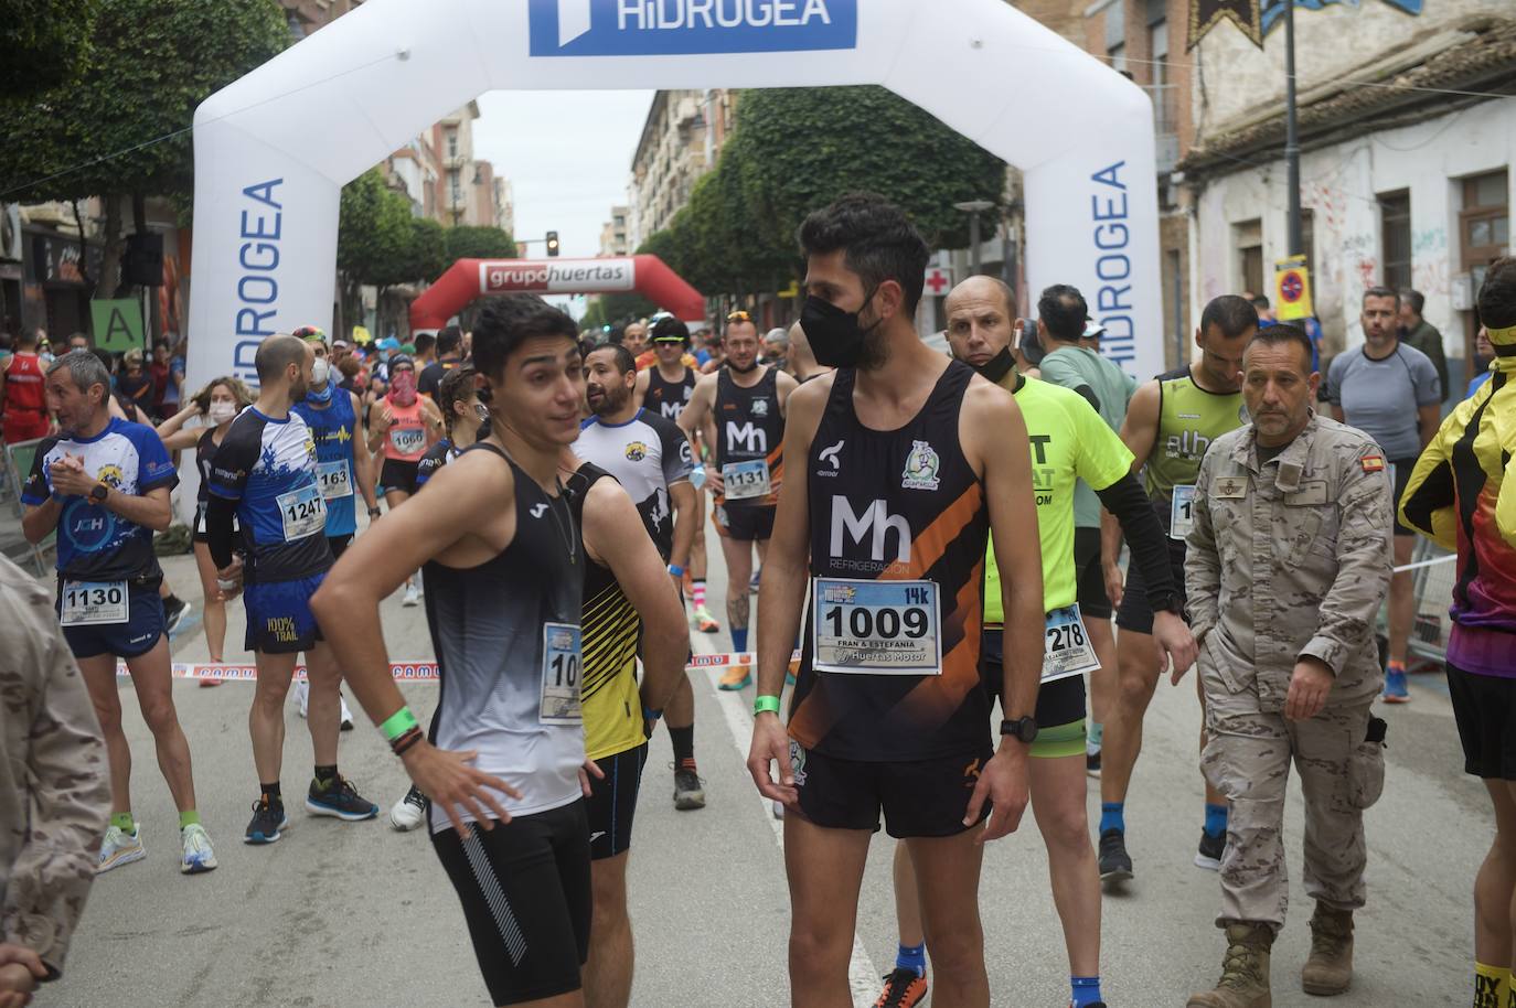
[[[602,259],[459,259],[411,302],[411,332],[435,332],[468,302],[490,294],[623,294],[637,291],[687,323],[705,320],[705,299],[658,256]]]

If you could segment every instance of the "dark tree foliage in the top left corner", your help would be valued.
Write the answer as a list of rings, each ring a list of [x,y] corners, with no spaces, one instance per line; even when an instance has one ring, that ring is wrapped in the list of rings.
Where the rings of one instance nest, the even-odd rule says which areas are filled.
[[[0,94],[67,83],[89,58],[100,0],[0,0]]]

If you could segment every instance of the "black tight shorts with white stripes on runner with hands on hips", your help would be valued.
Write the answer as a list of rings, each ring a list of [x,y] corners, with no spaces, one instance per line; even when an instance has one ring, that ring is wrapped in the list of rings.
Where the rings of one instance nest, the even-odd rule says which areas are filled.
[[[432,847],[458,890],[491,1005],[581,988],[590,953],[590,831],[584,802],[494,829],[444,829]]]

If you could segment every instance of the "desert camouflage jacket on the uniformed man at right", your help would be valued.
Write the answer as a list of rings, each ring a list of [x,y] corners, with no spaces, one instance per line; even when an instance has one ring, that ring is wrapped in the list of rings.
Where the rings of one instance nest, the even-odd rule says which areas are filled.
[[[1389,591],[1392,490],[1369,435],[1311,415],[1260,465],[1249,423],[1217,438],[1196,477],[1184,581],[1199,661],[1258,706],[1284,709],[1295,662],[1336,676],[1328,706],[1366,703],[1383,671],[1373,640]]]

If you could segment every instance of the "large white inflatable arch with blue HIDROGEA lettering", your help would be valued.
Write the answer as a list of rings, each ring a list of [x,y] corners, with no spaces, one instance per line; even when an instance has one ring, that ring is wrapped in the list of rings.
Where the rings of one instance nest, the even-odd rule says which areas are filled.
[[[190,385],[329,329],[343,185],[485,91],[855,83],[1020,168],[1031,290],[1163,370],[1152,105],[1004,0],[368,0],[196,112]]]

